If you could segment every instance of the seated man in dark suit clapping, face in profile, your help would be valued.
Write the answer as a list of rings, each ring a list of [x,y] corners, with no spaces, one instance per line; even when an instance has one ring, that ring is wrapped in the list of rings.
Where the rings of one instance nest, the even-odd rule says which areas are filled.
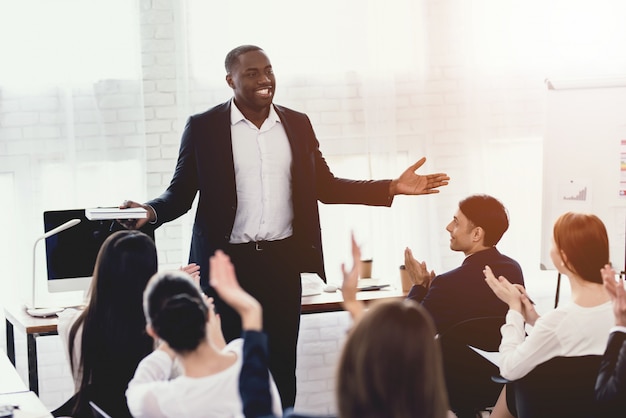
[[[488,265],[496,276],[524,285],[520,265],[496,249],[508,227],[508,213],[500,201],[473,195],[459,202],[446,227],[450,249],[465,254],[461,266],[436,276],[428,271],[426,262],[413,257],[410,248],[405,250],[404,262],[413,282],[408,298],[421,302],[430,312],[439,333],[466,319],[506,315],[507,305],[485,283],[483,270]]]

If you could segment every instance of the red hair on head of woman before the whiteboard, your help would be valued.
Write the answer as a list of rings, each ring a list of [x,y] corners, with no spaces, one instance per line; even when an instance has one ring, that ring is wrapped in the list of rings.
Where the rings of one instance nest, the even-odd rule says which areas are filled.
[[[609,262],[609,238],[596,215],[566,212],[554,223],[556,248],[563,251],[566,267],[583,280],[602,283],[600,269]]]

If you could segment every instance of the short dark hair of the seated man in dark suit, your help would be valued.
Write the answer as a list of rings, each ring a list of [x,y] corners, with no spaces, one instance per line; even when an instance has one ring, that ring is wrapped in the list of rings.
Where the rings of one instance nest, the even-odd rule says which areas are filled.
[[[469,196],[459,202],[459,209],[475,226],[485,231],[484,245],[493,247],[509,229],[509,214],[496,198],[486,194]]]

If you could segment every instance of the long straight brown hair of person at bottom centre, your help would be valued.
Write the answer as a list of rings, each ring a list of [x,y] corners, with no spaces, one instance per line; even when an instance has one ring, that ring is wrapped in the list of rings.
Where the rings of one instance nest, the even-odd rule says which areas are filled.
[[[448,400],[435,327],[412,300],[374,305],[351,331],[337,370],[341,418],[443,418]]]

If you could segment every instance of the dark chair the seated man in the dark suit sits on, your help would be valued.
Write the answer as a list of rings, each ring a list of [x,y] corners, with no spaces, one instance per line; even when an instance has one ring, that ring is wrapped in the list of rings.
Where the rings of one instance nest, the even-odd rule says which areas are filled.
[[[504,316],[472,318],[438,335],[450,409],[459,418],[475,418],[498,400],[502,384],[492,381],[498,367],[468,345],[498,351]]]

